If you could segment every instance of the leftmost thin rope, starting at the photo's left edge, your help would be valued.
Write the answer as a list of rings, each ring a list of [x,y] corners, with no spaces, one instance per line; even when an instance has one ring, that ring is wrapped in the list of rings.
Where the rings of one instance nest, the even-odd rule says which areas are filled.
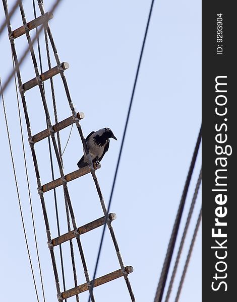
[[[1,77],[0,77],[0,87],[2,89]],[[11,143],[11,138],[10,138],[10,132],[9,132],[8,120],[7,120],[7,113],[6,113],[4,95],[3,94],[2,94],[2,101],[3,101],[5,123],[6,123],[7,133],[8,133],[9,149],[10,149],[10,154],[11,154],[11,159],[12,159],[12,167],[13,167],[13,173],[14,173],[14,178],[15,178],[18,204],[19,204],[19,208],[20,208],[20,214],[21,214],[21,221],[22,221],[22,226],[23,226],[23,231],[24,231],[25,243],[26,243],[28,258],[29,258],[29,262],[30,262],[31,273],[32,273],[32,277],[33,277],[34,287],[35,287],[35,293],[36,293],[37,301],[39,302],[38,290],[37,290],[37,286],[36,286],[35,275],[34,275],[33,265],[32,265],[31,256],[30,256],[30,249],[29,249],[28,240],[27,240],[27,236],[26,236],[26,229],[25,229],[24,217],[23,217],[23,212],[22,212],[22,207],[21,207],[20,192],[19,192],[19,188],[18,188],[17,175],[16,175],[16,169],[15,169],[15,164],[14,164],[14,159],[13,159],[13,152],[12,152],[12,143]]]

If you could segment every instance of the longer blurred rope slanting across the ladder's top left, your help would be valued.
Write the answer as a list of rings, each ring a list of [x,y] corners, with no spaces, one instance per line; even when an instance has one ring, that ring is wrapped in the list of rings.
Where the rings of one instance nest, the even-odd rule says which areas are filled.
[[[57,8],[58,4],[61,2],[62,0],[55,0],[53,6],[51,7],[49,14],[52,14],[55,9]],[[6,15],[6,18],[9,20],[9,15]],[[36,35],[34,36],[34,38],[32,39],[31,43],[32,45],[35,43],[38,35],[41,33],[41,31],[43,30],[44,26],[45,26],[46,22],[43,23],[42,25],[40,25],[40,28],[38,30],[38,33],[36,33]],[[9,25],[9,22],[8,22]],[[17,62],[18,66],[15,65],[15,68],[12,72],[9,73],[6,82],[4,83],[4,85],[2,86],[1,90],[0,90],[0,95],[2,95],[4,93],[4,91],[6,90],[6,88],[8,87],[10,81],[12,80],[14,73],[17,71],[18,67],[24,62],[26,55],[28,54],[28,51],[30,50],[31,45],[28,45],[25,48],[25,51],[23,52],[23,55],[21,56],[20,60]]]

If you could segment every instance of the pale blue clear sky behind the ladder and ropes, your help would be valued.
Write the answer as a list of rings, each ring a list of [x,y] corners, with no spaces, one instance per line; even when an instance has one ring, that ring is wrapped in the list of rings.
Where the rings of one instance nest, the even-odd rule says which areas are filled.
[[[15,3],[9,1],[10,7]],[[45,1],[45,11],[53,1]],[[34,19],[32,1],[23,2],[27,20]],[[39,16],[39,9],[37,16]],[[62,1],[50,21],[51,31],[66,71],[72,99],[77,111],[85,113],[81,121],[84,135],[92,130],[110,127],[118,141],[111,140],[109,152],[101,162],[97,177],[108,203],[117,156],[130,102],[135,72],[141,50],[150,1]],[[4,20],[0,6],[0,24]],[[13,29],[22,25],[19,10],[11,20]],[[31,33],[33,36],[33,33]],[[25,36],[16,39],[18,56],[25,49]],[[0,75],[5,82],[11,71],[11,52],[7,29],[0,36]],[[46,71],[44,39],[41,37],[43,69]],[[37,48],[35,47],[37,53]],[[51,57],[52,66],[55,60]],[[22,80],[34,78],[31,57],[21,66]],[[54,77],[58,119],[71,115],[60,75]],[[53,120],[49,81],[45,83],[47,103]],[[26,93],[32,133],[45,129],[45,117],[39,89]],[[32,262],[40,296],[39,272],[35,252],[32,221],[24,171],[16,92],[12,81],[5,92],[13,153],[19,182],[23,214]],[[30,176],[31,194],[38,246],[41,259],[46,301],[56,301],[56,289],[40,199],[37,193],[27,131],[22,111],[24,140]],[[117,214],[114,232],[124,262],[132,265],[129,275],[136,301],[154,299],[170,232],[179,206],[194,146],[201,124],[201,2],[155,1],[147,43],[134,97],[122,161],[118,172],[110,212]],[[3,108],[0,109],[1,129],[1,249],[0,288],[5,302],[36,301],[32,275],[18,206],[9,153]],[[70,127],[61,131],[64,148]],[[47,139],[35,145],[42,184],[51,180]],[[64,155],[65,173],[77,169],[82,156],[82,143],[76,127]],[[54,158],[55,177],[59,177]],[[182,231],[201,167],[195,167],[189,190]],[[68,183],[78,225],[103,216],[91,175]],[[61,234],[67,233],[62,187],[57,189]],[[53,192],[44,194],[52,238],[57,237]],[[174,300],[187,250],[201,206],[201,191],[174,283],[170,301]],[[85,257],[92,278],[102,228],[81,236]],[[181,238],[179,232],[179,239]],[[74,241],[78,284],[85,282],[81,260]],[[176,249],[179,245],[176,245]],[[59,248],[54,248],[61,278]],[[67,289],[74,287],[69,243],[63,244]],[[174,259],[173,259],[174,260]],[[173,262],[172,262],[173,263]],[[119,269],[111,237],[106,231],[97,277]],[[62,278],[61,278],[62,280]],[[63,282],[61,281],[63,291]],[[123,278],[94,289],[96,301],[130,301]],[[88,299],[88,292],[80,301]],[[75,301],[75,297],[68,299]],[[201,301],[201,229],[195,243],[191,263],[182,290],[181,302]]]

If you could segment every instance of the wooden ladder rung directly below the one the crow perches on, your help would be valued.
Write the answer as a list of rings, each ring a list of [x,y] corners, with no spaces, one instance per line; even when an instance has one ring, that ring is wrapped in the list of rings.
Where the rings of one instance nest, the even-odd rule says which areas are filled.
[[[116,214],[115,213],[109,213],[108,214],[108,218],[109,220],[115,220],[116,219]],[[85,225],[82,225],[80,226],[78,229],[77,229],[77,232],[79,233],[79,235],[82,235],[82,234],[85,234],[91,230],[94,230],[96,228],[98,228],[99,226],[103,225],[104,224],[104,219],[105,219],[105,216],[103,217],[100,217],[92,222],[89,222]],[[73,238],[75,238],[75,234],[74,234],[74,231],[71,231],[69,233],[66,233],[64,235],[61,235],[59,237],[56,237],[54,239],[52,239],[52,245],[55,247],[57,245],[60,245],[66,241],[69,241]]]

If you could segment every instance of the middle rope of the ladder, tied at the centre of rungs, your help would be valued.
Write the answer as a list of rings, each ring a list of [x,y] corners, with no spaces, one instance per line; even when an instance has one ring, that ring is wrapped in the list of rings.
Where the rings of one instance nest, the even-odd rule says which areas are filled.
[[[23,24],[27,24],[22,3],[20,4],[20,11],[21,11],[21,15],[22,15]],[[30,38],[30,33],[29,33],[29,31],[27,31],[27,28],[26,28],[26,36],[27,36],[27,40],[28,40],[28,43],[29,43],[30,53],[31,53],[31,57],[32,57],[32,61],[33,61],[34,67],[35,67],[35,73],[36,73],[36,77],[37,77],[39,75],[37,61],[36,61],[36,58],[35,58],[32,42],[31,42],[31,38]],[[44,94],[44,91],[43,91],[43,88],[42,88],[42,83],[39,83],[38,86],[39,86],[39,90],[40,90],[40,94],[41,94],[41,99],[42,99],[46,119],[47,119],[47,121],[49,121],[48,127],[50,128],[50,126],[51,126],[50,116],[49,116],[49,112],[48,112],[48,108],[47,108],[45,94]],[[51,135],[51,139],[52,139],[52,142],[53,142],[53,147],[54,147],[56,159],[57,159],[57,162],[58,162],[58,166],[60,168],[61,176],[62,176],[62,178],[65,179],[63,165],[62,165],[62,161],[61,161],[61,158],[60,158],[60,155],[59,155],[59,152],[58,152],[58,148],[57,148],[57,144],[56,144],[56,140],[55,140],[54,135]],[[70,209],[70,212],[71,212],[72,220],[74,219],[75,228],[77,228],[76,227],[75,215],[74,215],[74,212],[73,212],[72,203],[71,203],[71,199],[70,199],[70,196],[69,196],[69,191],[68,191],[68,187],[67,187],[66,182],[64,182],[64,189],[65,189],[65,192],[66,192],[66,197],[68,199],[69,209]],[[40,192],[40,193],[43,195],[42,192]],[[86,281],[90,282],[90,277],[89,277],[89,273],[88,273],[88,269],[87,269],[86,260],[85,260],[84,252],[83,252],[83,249],[82,249],[80,237],[77,238],[77,244],[78,244],[79,252],[80,252],[80,255],[81,255],[81,259],[82,259],[82,264],[83,264],[83,268],[84,268],[84,274],[85,274],[85,277],[86,277]],[[93,293],[91,293],[91,298],[92,298],[92,301],[94,302],[95,298],[94,298]],[[61,293],[58,293],[58,299],[62,299]]]

